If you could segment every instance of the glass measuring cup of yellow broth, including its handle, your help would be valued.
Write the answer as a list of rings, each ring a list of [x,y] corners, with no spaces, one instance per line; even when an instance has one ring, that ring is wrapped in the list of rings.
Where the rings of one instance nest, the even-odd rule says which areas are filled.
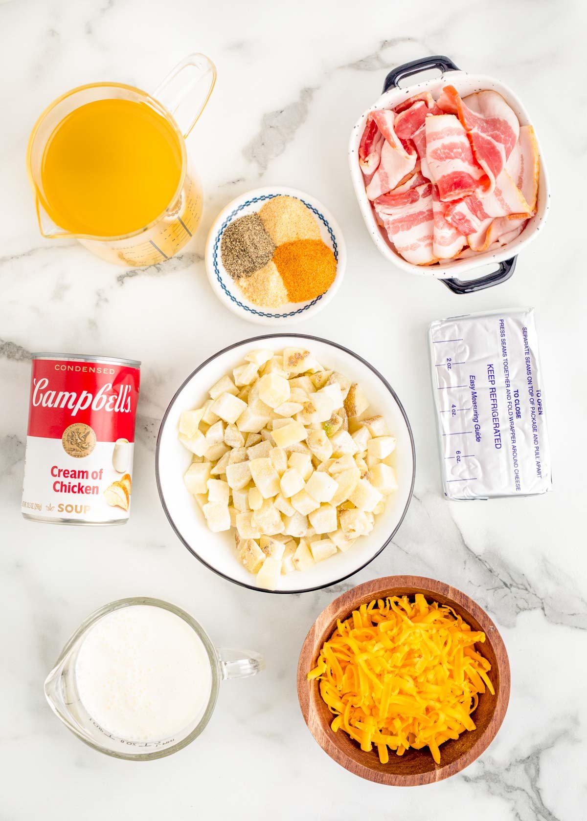
[[[192,54],[155,96],[94,83],[51,103],[27,150],[41,234],[75,237],[103,259],[133,267],[177,254],[202,210],[185,138],[215,80],[208,57]]]

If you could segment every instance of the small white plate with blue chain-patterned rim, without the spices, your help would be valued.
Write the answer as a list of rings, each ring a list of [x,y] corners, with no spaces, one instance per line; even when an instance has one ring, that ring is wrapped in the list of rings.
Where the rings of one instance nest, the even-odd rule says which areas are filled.
[[[308,300],[307,302],[288,302],[285,305],[281,305],[280,308],[271,309],[253,305],[252,302],[247,300],[238,287],[237,282],[235,282],[224,269],[222,259],[220,258],[220,241],[224,231],[233,220],[244,217],[250,213],[256,213],[267,200],[271,200],[277,196],[295,197],[297,200],[301,200],[303,204],[312,211],[320,227],[322,241],[332,249],[335,255],[336,276],[330,288],[321,294],[321,296],[317,296],[316,299]],[[205,260],[206,273],[208,274],[212,290],[229,310],[233,311],[234,314],[237,314],[242,319],[247,319],[248,322],[261,325],[280,325],[283,327],[286,324],[307,319],[328,305],[332,297],[335,296],[336,291],[338,291],[340,282],[342,282],[344,276],[346,247],[338,223],[321,202],[311,195],[306,194],[304,191],[299,191],[294,188],[266,187],[247,191],[246,194],[229,202],[229,204],[220,211],[210,228],[210,233],[206,240]]]

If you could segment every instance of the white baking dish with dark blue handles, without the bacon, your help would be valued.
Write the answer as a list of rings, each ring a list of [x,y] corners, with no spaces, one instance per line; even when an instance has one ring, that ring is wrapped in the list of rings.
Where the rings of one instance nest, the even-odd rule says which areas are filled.
[[[400,80],[404,77],[409,77],[418,74],[420,71],[429,71],[431,69],[440,69],[441,76],[435,77],[433,80],[424,80],[417,85],[409,85],[407,88],[400,88]],[[358,144],[361,141],[365,121],[367,115],[372,111],[377,111],[379,108],[394,108],[402,100],[408,99],[423,91],[430,91],[432,95],[437,98],[441,93],[441,89],[445,85],[454,85],[455,89],[461,96],[465,97],[467,94],[473,94],[475,91],[483,89],[493,89],[501,94],[506,99],[511,108],[515,111],[520,125],[529,125],[530,120],[520,100],[515,96],[513,91],[506,85],[503,85],[499,80],[494,80],[480,74],[467,74],[465,71],[460,71],[455,66],[455,63],[449,57],[435,55],[433,57],[423,57],[420,60],[407,62],[403,66],[399,66],[386,76],[383,85],[383,94],[377,100],[377,103],[367,108],[359,117],[358,122],[353,128],[349,140],[349,166],[350,174],[353,180],[354,191],[357,195],[357,200],[367,230],[372,236],[372,240],[381,251],[381,254],[395,264],[397,268],[401,268],[408,273],[418,273],[420,276],[437,277],[449,287],[451,291],[457,294],[471,293],[472,291],[480,291],[483,288],[498,285],[500,282],[505,282],[514,273],[515,259],[525,245],[534,239],[534,236],[543,227],[544,221],[548,214],[548,207],[550,201],[550,192],[548,188],[548,177],[542,150],[539,147],[540,154],[540,178],[538,181],[538,206],[528,224],[526,225],[520,236],[505,245],[499,251],[484,251],[474,257],[466,259],[453,259],[443,264],[436,265],[414,265],[406,262],[395,250],[391,241],[389,241],[385,229],[377,225],[371,203],[367,199],[365,192],[365,183],[363,172],[358,165]],[[536,138],[538,140],[538,136]],[[471,272],[475,268],[483,268],[488,264],[492,264],[492,272],[484,273],[478,278],[469,278],[465,281],[457,279],[464,273]],[[497,269],[495,265],[498,264]]]

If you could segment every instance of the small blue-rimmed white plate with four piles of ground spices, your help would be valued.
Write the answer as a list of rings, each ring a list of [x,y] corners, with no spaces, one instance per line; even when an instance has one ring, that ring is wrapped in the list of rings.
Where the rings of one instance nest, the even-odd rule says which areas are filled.
[[[261,325],[317,314],[338,291],[345,266],[335,218],[294,188],[257,188],[232,200],[206,241],[215,295],[234,314]]]

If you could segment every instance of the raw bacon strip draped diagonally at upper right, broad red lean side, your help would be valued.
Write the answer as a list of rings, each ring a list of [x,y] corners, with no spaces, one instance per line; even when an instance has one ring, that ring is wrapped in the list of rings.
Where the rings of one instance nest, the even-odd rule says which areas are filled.
[[[447,85],[438,106],[455,113],[465,127],[475,158],[489,177],[490,194],[518,140],[518,118],[497,91],[478,91],[460,99],[455,86]]]

